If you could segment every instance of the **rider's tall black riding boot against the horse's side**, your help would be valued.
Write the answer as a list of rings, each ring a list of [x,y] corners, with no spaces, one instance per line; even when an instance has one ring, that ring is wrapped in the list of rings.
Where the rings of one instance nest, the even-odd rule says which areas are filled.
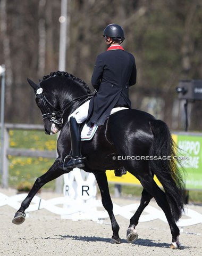
[[[81,131],[80,126],[74,117],[70,117],[70,137],[71,137],[71,156],[66,156],[64,161],[64,169],[73,169],[75,167],[84,167],[84,159],[81,155]],[[69,162],[68,159],[70,158]]]

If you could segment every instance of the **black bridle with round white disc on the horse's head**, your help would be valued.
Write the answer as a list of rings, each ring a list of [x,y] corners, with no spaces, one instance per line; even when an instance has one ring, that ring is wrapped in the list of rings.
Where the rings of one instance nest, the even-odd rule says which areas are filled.
[[[62,111],[60,109],[55,108],[51,102],[49,102],[46,98],[46,96],[43,93],[43,89],[39,87],[36,91],[35,99],[39,98],[41,101],[41,110],[43,111],[42,119],[48,118],[51,123],[56,124],[58,127],[62,127],[63,124],[63,118],[62,118]],[[54,110],[51,110],[49,108],[53,108]]]

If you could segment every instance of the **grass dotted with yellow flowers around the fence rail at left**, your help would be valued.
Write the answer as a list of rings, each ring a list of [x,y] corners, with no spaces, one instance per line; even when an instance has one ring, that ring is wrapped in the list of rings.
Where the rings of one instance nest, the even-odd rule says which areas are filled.
[[[38,150],[56,150],[56,136],[45,135],[43,131],[10,130],[10,147]],[[9,158],[9,186],[18,188],[23,182],[31,185],[43,175],[54,162],[50,158],[15,157]],[[48,182],[45,189],[53,190],[55,181]]]

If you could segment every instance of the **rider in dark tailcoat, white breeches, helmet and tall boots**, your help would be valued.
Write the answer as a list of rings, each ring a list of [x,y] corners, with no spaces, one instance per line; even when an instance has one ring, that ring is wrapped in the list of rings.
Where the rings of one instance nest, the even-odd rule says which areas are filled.
[[[131,53],[120,45],[124,41],[124,31],[117,24],[106,26],[103,31],[107,51],[97,56],[91,78],[96,93],[69,116],[72,155],[67,169],[83,167],[81,155],[80,127],[87,119],[87,125],[103,125],[115,107],[131,108],[129,86],[136,84],[136,63]]]

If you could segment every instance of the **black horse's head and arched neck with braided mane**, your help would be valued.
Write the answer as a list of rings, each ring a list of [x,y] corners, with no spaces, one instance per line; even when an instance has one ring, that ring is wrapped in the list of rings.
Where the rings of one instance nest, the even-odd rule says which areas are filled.
[[[44,76],[39,84],[28,78],[28,83],[35,91],[46,134],[57,133],[62,128],[62,118],[65,122],[65,118],[93,94],[84,81],[63,71]]]

